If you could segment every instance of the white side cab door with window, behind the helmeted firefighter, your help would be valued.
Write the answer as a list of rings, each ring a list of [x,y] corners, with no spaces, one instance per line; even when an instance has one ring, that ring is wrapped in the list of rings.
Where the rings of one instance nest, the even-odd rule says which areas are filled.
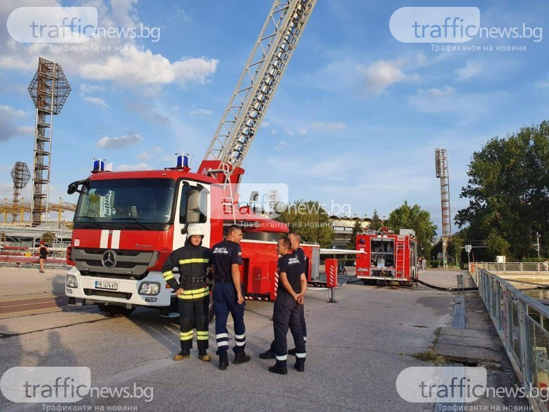
[[[194,181],[180,181],[174,219],[172,249],[183,247],[189,225],[199,225],[204,232],[202,244],[209,246],[211,236],[211,193],[209,185]]]

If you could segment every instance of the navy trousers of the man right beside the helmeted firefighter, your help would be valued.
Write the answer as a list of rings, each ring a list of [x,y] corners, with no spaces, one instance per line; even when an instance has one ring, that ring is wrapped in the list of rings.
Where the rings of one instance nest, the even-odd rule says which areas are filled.
[[[233,317],[235,327],[235,346],[233,352],[244,352],[246,347],[246,327],[244,326],[244,306],[238,304],[235,286],[232,283],[215,282],[213,287],[213,311],[215,312],[215,340],[218,342],[218,355],[229,350],[229,331],[227,319]]]

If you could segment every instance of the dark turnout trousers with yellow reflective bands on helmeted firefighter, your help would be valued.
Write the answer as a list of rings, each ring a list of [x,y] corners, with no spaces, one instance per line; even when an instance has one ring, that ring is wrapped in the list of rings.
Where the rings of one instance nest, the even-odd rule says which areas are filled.
[[[193,329],[196,326],[198,352],[205,352],[208,349],[209,297],[197,301],[190,299],[178,299],[178,301],[181,351],[187,353],[193,347]]]

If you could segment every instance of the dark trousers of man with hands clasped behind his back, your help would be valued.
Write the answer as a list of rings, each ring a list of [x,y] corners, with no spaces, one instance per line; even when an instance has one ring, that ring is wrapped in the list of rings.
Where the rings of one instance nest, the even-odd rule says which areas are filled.
[[[286,361],[288,359],[288,341],[286,335],[288,328],[294,337],[296,345],[296,362],[305,363],[305,340],[303,339],[303,330],[301,329],[301,310],[303,305],[297,302],[290,295],[280,294],[274,301],[272,311],[272,327],[274,328],[274,354],[277,361]]]

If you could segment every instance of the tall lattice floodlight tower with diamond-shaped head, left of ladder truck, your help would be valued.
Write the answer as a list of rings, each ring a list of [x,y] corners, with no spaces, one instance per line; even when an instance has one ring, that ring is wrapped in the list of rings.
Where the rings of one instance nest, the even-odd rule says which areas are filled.
[[[38,226],[47,222],[53,116],[61,111],[71,87],[60,65],[40,57],[28,90],[36,106],[30,222]]]

